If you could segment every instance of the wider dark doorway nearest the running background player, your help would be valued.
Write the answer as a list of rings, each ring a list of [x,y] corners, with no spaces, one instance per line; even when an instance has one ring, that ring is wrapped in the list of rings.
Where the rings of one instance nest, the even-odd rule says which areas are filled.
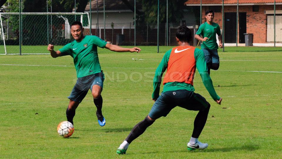
[[[236,13],[224,13],[224,43],[236,43]]]

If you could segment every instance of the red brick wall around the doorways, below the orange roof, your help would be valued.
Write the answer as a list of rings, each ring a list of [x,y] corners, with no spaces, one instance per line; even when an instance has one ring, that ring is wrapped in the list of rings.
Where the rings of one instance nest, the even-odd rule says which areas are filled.
[[[205,12],[208,9],[209,9],[208,6],[202,6],[202,23],[206,21]],[[247,14],[247,33],[253,34],[253,43],[266,43],[267,15],[264,14],[264,11],[267,10],[274,10],[274,6],[260,5],[259,12],[253,12],[252,6],[239,5],[239,12],[246,12]],[[276,10],[282,10],[282,5],[276,5]],[[236,5],[224,6],[224,12],[237,12],[237,6]],[[219,24],[220,28],[222,29],[222,10],[221,13],[214,13],[213,22]],[[239,43],[239,31],[238,31],[238,43]]]

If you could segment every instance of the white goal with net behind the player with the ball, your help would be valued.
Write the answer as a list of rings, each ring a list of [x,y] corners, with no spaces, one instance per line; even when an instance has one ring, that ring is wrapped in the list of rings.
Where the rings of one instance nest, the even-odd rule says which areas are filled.
[[[73,41],[74,21],[82,23],[84,35],[90,34],[88,13],[0,13],[0,17],[0,54],[46,54],[49,43],[58,49]]]

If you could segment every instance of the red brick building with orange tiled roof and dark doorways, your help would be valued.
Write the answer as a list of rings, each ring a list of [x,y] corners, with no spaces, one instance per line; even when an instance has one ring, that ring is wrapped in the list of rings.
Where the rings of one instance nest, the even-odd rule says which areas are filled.
[[[187,6],[200,6],[199,0],[188,0]],[[222,29],[222,1],[202,0],[202,23],[205,11],[213,10],[214,22]],[[224,1],[224,41],[236,43],[237,0]],[[276,42],[282,42],[282,0],[276,0]],[[274,0],[239,0],[238,43],[245,43],[244,34],[253,34],[254,46],[273,46]]]

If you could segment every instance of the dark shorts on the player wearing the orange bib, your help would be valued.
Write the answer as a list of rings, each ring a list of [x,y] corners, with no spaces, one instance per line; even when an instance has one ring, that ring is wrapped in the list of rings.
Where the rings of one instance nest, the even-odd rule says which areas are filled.
[[[163,92],[161,96],[154,103],[149,116],[152,119],[158,119],[167,114],[176,106],[192,111],[204,110],[208,107],[209,102],[200,94],[187,91],[167,91]]]

